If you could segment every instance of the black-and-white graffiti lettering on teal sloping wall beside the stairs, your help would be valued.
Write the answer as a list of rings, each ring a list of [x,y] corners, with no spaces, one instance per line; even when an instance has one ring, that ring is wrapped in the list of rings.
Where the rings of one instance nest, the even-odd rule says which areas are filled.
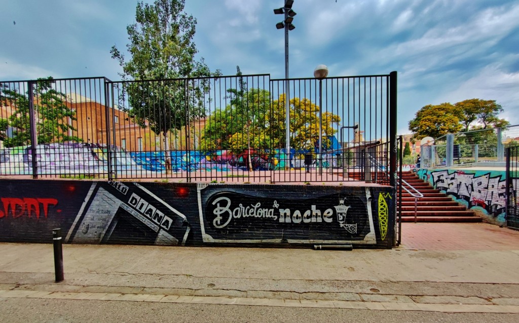
[[[417,174],[468,208],[483,211],[500,221],[504,220],[507,204],[504,171],[420,169]],[[513,187],[517,187],[517,184],[519,179],[512,179]]]

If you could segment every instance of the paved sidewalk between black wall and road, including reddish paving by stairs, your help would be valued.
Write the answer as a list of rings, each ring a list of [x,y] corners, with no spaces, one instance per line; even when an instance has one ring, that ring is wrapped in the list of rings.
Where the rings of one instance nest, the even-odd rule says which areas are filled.
[[[0,298],[519,313],[519,232],[404,223],[393,250],[0,244]]]

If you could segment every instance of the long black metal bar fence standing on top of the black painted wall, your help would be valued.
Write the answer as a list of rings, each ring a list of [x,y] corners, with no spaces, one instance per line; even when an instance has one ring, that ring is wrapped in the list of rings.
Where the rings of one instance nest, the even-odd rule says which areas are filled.
[[[395,186],[396,78],[0,82],[0,176]]]

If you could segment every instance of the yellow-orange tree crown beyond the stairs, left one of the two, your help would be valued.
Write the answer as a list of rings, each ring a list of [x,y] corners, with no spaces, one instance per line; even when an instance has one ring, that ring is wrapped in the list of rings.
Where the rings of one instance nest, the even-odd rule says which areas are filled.
[[[413,131],[413,139],[427,136],[439,138],[447,133],[456,133],[462,127],[458,110],[450,103],[426,105],[416,112],[414,119],[409,121],[409,130]]]

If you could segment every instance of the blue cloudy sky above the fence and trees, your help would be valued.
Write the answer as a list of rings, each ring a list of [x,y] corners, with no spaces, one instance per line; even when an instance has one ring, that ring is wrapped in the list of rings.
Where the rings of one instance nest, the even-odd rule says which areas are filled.
[[[0,0],[0,80],[106,76],[120,67],[135,0]],[[284,77],[283,0],[186,0],[199,57],[224,75]],[[398,71],[399,134],[427,104],[497,100],[519,124],[516,0],[295,0],[290,77]],[[16,24],[14,23],[16,22]]]

